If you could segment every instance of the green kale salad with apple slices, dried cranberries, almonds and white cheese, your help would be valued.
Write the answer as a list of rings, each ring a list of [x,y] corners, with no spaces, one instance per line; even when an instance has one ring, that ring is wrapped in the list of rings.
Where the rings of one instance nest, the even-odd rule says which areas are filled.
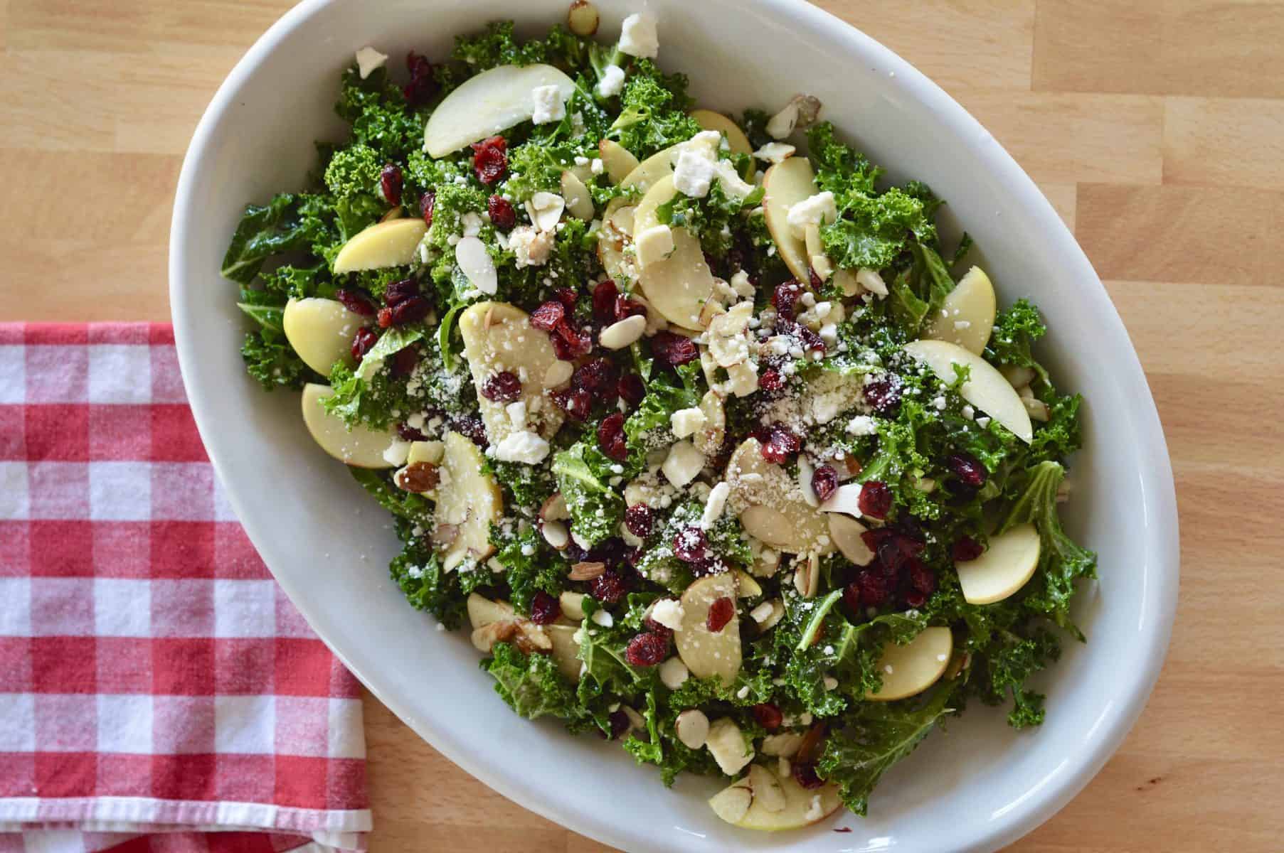
[[[815,97],[697,109],[650,15],[596,31],[360,50],[348,137],[231,239],[247,368],[516,713],[727,777],[742,827],[864,815],[969,702],[1043,721],[1095,571],[1058,518],[1080,398]]]

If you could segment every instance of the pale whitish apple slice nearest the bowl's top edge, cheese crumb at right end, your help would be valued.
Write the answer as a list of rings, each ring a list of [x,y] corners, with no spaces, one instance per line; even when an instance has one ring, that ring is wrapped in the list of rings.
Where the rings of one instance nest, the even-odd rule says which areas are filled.
[[[433,158],[529,122],[535,114],[532,94],[556,86],[565,103],[575,82],[552,65],[499,65],[471,77],[438,104],[424,126],[424,150]]]

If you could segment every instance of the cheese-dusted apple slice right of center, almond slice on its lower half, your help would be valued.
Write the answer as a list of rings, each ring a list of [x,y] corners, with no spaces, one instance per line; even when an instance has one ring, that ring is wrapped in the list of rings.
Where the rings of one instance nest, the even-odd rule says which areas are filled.
[[[751,536],[788,554],[828,554],[835,545],[824,514],[806,504],[797,482],[763,458],[758,439],[746,439],[727,462],[731,502]]]

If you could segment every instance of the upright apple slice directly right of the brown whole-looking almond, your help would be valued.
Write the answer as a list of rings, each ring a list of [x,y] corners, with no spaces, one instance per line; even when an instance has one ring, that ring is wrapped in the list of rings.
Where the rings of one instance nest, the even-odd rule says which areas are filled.
[[[483,469],[484,464],[482,452],[470,439],[458,432],[446,434],[433,543],[442,552],[442,568],[447,572],[465,559],[480,563],[494,553],[490,525],[503,512],[503,495]]]

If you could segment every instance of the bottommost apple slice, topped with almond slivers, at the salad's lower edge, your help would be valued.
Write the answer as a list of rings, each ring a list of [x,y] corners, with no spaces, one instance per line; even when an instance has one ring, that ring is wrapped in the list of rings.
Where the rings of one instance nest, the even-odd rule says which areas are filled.
[[[810,826],[841,804],[833,784],[808,790],[792,776],[779,776],[760,764],[752,764],[749,775],[709,799],[714,813],[728,823],[770,832]]]

